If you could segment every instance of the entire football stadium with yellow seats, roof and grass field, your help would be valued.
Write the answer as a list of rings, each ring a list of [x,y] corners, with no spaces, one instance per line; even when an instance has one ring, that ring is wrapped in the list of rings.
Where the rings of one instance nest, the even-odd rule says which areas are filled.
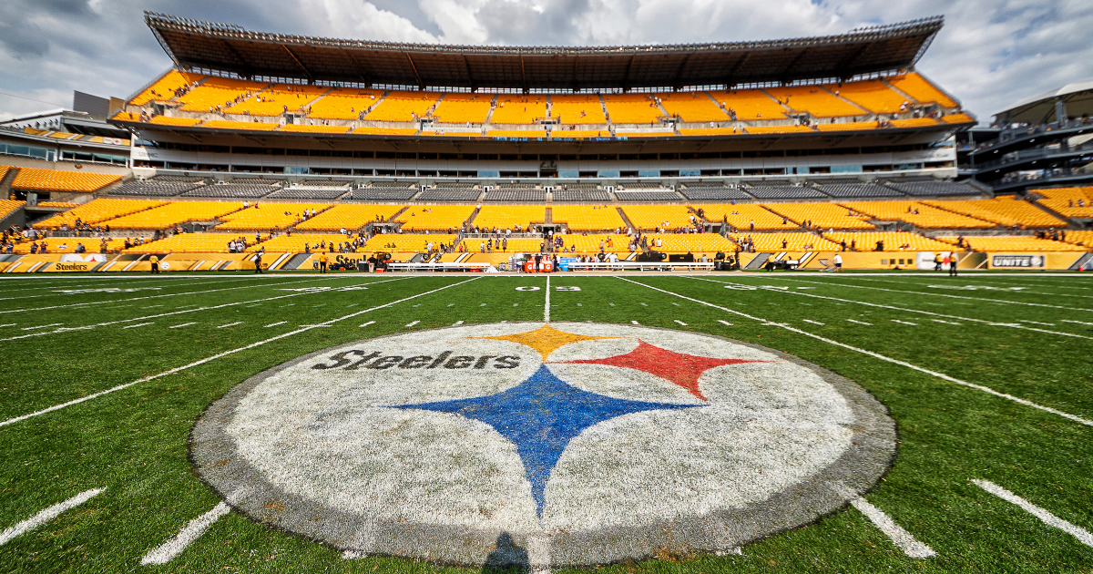
[[[0,570],[1093,572],[1093,84],[144,23],[0,122]]]

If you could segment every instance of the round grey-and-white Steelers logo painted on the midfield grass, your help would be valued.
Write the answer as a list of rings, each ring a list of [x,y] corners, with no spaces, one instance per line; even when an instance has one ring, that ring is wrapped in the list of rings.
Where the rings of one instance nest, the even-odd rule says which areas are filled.
[[[255,519],[461,564],[510,540],[532,566],[737,547],[839,508],[894,452],[884,407],[815,365],[579,323],[327,349],[237,385],[191,436],[205,482]]]

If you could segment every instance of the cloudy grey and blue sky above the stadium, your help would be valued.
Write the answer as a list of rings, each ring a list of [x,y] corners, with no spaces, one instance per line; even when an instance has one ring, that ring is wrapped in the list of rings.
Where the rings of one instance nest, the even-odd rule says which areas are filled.
[[[144,10],[259,32],[567,46],[816,36],[944,14],[918,70],[985,122],[1093,78],[1090,0],[3,0],[0,92],[31,99],[0,95],[0,118],[70,107],[73,90],[128,97],[166,70]]]

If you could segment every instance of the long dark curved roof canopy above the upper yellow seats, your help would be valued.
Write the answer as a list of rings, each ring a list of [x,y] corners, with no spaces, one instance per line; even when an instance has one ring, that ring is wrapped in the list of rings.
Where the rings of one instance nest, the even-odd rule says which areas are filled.
[[[933,16],[837,36],[603,47],[445,46],[249,32],[178,16],[144,21],[184,69],[449,89],[630,90],[850,79],[912,68],[943,25]]]

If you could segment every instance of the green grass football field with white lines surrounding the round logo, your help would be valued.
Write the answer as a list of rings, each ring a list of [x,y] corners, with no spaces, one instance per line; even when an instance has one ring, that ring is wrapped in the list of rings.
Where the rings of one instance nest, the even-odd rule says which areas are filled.
[[[1093,572],[1093,277],[915,272],[3,278],[0,572],[482,570],[345,555],[236,512],[142,560],[221,502],[188,437],[236,384],[361,339],[548,315],[783,351],[898,431],[865,505],[741,553],[557,572]]]

